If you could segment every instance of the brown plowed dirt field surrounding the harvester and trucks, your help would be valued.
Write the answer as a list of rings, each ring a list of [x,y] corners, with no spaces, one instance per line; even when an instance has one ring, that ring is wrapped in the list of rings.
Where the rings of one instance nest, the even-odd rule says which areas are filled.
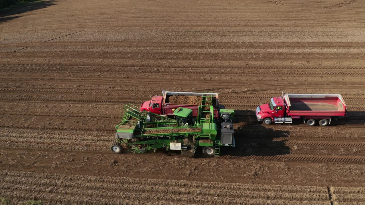
[[[365,204],[365,1],[46,0],[0,13],[0,197],[13,204]],[[237,148],[112,154],[122,105],[219,93]],[[341,93],[328,127],[262,125]]]

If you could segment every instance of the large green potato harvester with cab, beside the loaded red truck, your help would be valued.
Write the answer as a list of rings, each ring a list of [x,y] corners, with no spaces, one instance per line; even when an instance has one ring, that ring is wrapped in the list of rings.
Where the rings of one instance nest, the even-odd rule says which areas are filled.
[[[174,119],[124,105],[124,116],[115,126],[111,151],[121,153],[127,149],[139,154],[164,148],[193,157],[196,148],[201,146],[204,155],[219,156],[220,146],[235,147],[234,110],[221,109],[217,119],[210,100],[210,96],[202,96],[197,117],[193,117],[191,109],[180,107],[174,110]]]

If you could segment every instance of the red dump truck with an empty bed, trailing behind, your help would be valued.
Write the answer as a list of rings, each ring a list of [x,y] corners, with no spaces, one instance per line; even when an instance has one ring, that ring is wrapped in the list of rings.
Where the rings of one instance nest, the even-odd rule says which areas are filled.
[[[345,114],[346,103],[340,94],[285,94],[256,109],[257,120],[264,124],[297,120],[310,126],[326,126]]]

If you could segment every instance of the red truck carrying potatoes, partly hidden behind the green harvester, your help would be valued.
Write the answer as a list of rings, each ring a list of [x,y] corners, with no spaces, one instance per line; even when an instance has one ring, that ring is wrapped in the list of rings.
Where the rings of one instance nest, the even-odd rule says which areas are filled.
[[[176,108],[188,108],[193,111],[193,116],[198,115],[198,106],[200,105],[189,105],[189,104],[172,104],[169,103],[171,96],[203,96],[212,95],[212,102],[214,107],[214,117],[217,118],[219,110],[218,93],[185,93],[185,92],[168,92],[163,91],[162,96],[153,96],[151,100],[143,102],[141,104],[141,111],[149,111],[158,115],[173,116]]]

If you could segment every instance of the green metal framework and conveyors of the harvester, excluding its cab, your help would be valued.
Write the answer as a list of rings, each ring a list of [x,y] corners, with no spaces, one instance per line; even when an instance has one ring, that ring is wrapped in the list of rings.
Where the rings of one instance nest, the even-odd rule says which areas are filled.
[[[140,112],[138,107],[131,104],[124,105],[124,115],[121,122],[116,125],[117,133],[130,133],[133,138],[118,138],[115,142],[125,144],[131,152],[136,154],[156,151],[158,148],[169,150],[170,143],[176,142],[181,143],[181,150],[186,151],[194,151],[197,146],[212,146],[215,148],[215,156],[219,156],[220,138],[217,125],[220,123],[215,123],[212,99],[212,94],[202,95],[197,121],[191,126],[177,126],[176,119],[146,111]],[[233,110],[224,110],[226,111]],[[147,116],[150,117],[147,118]],[[148,134],[148,131],[158,131],[158,133]],[[200,142],[201,139],[209,141]]]

